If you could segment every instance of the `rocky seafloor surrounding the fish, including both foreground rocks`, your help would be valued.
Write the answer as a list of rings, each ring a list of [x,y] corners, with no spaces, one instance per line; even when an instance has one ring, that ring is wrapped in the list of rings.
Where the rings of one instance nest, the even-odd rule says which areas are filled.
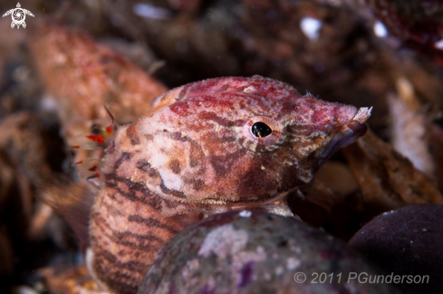
[[[124,124],[169,88],[254,74],[325,101],[373,106],[370,131],[288,200],[300,220],[263,211],[202,220],[160,250],[139,292],[443,290],[443,5],[21,5],[34,14],[25,29],[0,20],[0,293],[101,291],[72,229],[36,196],[93,175],[73,163],[102,149],[69,147],[90,144],[85,134],[109,123],[103,105]]]

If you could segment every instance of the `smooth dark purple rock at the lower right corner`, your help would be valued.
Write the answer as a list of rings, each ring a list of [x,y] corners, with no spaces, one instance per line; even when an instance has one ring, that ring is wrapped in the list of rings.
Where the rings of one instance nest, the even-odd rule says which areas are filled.
[[[429,283],[403,283],[418,293],[443,292],[443,205],[415,204],[381,214],[349,245],[398,275],[429,275]]]

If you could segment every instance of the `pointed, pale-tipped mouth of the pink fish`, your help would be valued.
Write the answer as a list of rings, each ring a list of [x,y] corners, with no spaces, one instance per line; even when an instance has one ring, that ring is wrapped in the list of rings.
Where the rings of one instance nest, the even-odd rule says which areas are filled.
[[[325,147],[320,158],[326,160],[333,152],[352,144],[364,135],[368,131],[368,125],[365,122],[371,116],[371,111],[372,107],[361,107],[351,122],[343,125],[342,131],[332,135],[331,141]]]

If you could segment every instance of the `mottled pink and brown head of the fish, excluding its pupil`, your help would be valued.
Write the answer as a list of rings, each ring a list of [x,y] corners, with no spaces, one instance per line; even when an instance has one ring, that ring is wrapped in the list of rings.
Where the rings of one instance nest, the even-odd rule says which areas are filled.
[[[312,181],[342,142],[362,134],[365,125],[352,121],[356,113],[354,106],[302,96],[272,79],[217,78],[160,96],[154,110],[130,126],[139,142],[131,149],[187,201],[274,201]],[[265,122],[272,134],[255,137],[254,122]],[[158,181],[145,182],[159,195],[183,201],[161,191]]]

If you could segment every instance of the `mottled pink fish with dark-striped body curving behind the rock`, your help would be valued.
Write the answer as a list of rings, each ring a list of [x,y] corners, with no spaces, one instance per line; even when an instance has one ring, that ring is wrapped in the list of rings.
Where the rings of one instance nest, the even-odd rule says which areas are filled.
[[[106,150],[91,211],[91,274],[111,292],[137,292],[174,234],[209,214],[285,203],[366,132],[370,115],[261,76],[160,95]]]

